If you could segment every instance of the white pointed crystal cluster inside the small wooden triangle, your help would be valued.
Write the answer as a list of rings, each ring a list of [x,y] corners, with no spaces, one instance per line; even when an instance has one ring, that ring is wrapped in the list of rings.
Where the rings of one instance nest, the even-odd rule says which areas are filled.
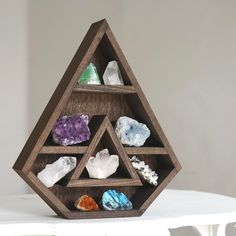
[[[95,157],[90,157],[86,169],[90,178],[106,179],[114,174],[119,166],[119,157],[110,155],[108,149],[98,152]]]

